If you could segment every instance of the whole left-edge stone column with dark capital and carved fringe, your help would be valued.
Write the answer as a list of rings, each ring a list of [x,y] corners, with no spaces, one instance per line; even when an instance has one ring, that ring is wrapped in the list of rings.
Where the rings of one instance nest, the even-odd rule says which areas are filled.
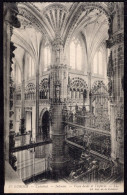
[[[10,161],[9,159],[9,135],[11,132],[9,129],[13,128],[13,122],[10,120],[9,123],[9,115],[12,117],[13,111],[10,109],[13,106],[13,101],[9,101],[10,95],[11,99],[13,99],[13,91],[12,91],[12,83],[10,83],[10,76],[11,76],[11,64],[12,64],[12,57],[14,57],[13,51],[15,47],[13,47],[11,43],[11,35],[13,26],[16,28],[20,27],[20,23],[17,20],[18,10],[15,3],[4,3],[3,8],[3,54],[4,54],[4,149],[5,149],[5,160]],[[11,51],[12,49],[12,51]],[[9,112],[10,111],[10,112]],[[11,128],[10,128],[11,127]],[[11,139],[10,135],[10,139]],[[12,140],[13,142],[13,140]],[[11,156],[12,157],[12,156]],[[14,161],[13,161],[14,162]],[[13,166],[14,164],[12,164]],[[14,168],[14,166],[13,166]]]

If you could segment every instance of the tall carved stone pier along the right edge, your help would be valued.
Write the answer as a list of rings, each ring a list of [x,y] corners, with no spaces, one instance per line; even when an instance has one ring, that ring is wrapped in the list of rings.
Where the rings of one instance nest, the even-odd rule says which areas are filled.
[[[124,3],[116,2],[109,30],[108,79],[111,121],[111,157],[124,164]]]

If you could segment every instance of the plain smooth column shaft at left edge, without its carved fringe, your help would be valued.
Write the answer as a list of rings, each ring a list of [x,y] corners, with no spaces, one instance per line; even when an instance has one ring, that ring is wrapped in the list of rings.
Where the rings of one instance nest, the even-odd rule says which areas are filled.
[[[10,25],[4,22],[4,149],[5,160],[9,161],[9,71],[10,71]]]

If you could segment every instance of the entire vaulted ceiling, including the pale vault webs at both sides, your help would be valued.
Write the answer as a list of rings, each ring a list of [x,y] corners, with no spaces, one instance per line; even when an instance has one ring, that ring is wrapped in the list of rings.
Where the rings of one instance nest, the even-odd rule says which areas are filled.
[[[12,40],[38,58],[44,40],[56,37],[68,46],[81,33],[91,58],[99,45],[108,39],[111,6],[102,2],[21,2],[18,3],[21,28],[14,30]]]

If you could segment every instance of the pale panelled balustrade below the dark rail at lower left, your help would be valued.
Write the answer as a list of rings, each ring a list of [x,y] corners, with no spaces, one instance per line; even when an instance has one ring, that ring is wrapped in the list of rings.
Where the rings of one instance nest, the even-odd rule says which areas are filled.
[[[39,147],[43,148],[44,158],[36,157]],[[50,171],[50,150],[46,151],[47,155],[45,155],[44,151],[46,151],[45,146],[37,146],[15,153],[17,157],[17,174],[24,182],[34,180],[37,175]]]

